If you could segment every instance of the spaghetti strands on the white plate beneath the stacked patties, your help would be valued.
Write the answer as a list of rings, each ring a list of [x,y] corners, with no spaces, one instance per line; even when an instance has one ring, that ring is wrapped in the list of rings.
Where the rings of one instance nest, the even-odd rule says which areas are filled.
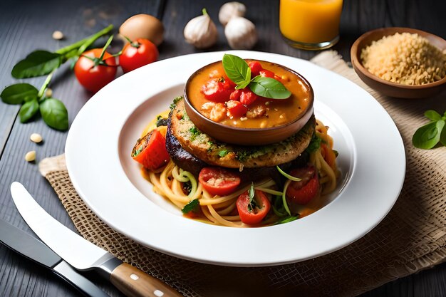
[[[165,114],[166,113],[164,113],[164,115]],[[145,132],[156,128],[165,135],[166,127],[156,127],[155,123],[156,119],[147,126]],[[316,142],[320,142],[320,145],[316,150],[313,150],[313,152],[310,153],[309,162],[316,167],[318,181],[321,187],[319,193],[323,197],[324,195],[333,192],[336,188],[339,171],[336,165],[336,151],[333,151],[333,138],[328,135],[328,127],[323,125],[321,121],[316,120],[315,134]],[[150,171],[143,168],[142,174],[150,181],[150,183],[152,183],[153,191],[155,193],[170,200],[170,202],[175,204],[179,209],[184,209],[187,204],[190,204],[190,202],[197,199],[199,212],[194,214],[193,217],[195,219],[199,219],[202,222],[207,222],[209,224],[222,226],[251,226],[242,222],[236,207],[238,197],[244,192],[247,192],[251,187],[251,184],[244,184],[235,192],[226,196],[213,196],[202,187],[202,184],[197,182],[197,177],[193,176],[190,172],[182,170],[175,165],[172,160],[159,170]],[[278,185],[273,179],[263,179],[254,182],[253,186],[254,189],[266,193],[267,197],[272,202],[273,199],[279,199],[277,197],[285,197],[284,192],[286,192],[286,187],[288,187],[290,183],[291,180],[287,180],[284,188],[278,189]],[[187,185],[187,189],[185,189],[185,185]],[[283,201],[284,209],[289,214],[286,199],[283,199]],[[317,209],[317,207],[302,206],[301,212],[299,212],[300,217],[311,214]],[[274,209],[274,212],[270,212],[261,222],[261,226],[278,222],[283,214],[284,213],[277,212],[276,209]]]

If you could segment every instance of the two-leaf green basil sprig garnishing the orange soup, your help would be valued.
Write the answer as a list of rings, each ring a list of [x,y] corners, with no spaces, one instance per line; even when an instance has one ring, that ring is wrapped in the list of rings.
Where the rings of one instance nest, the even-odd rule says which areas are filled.
[[[271,99],[287,99],[291,96],[291,92],[279,80],[261,75],[251,78],[251,68],[247,61],[238,56],[225,53],[222,63],[227,77],[237,85],[236,89],[249,86],[256,95]]]

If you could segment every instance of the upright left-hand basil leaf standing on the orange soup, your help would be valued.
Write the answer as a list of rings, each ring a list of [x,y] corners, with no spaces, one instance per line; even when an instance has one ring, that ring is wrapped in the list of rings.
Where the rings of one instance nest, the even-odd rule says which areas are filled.
[[[248,63],[242,58],[234,55],[224,54],[223,68],[227,77],[232,80],[237,88],[246,88],[249,85],[249,80],[251,80],[251,68],[249,68]],[[242,87],[244,85],[244,87]]]

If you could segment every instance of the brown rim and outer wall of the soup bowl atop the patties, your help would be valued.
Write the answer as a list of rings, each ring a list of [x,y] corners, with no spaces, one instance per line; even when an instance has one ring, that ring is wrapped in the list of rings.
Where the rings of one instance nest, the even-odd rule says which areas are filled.
[[[210,63],[207,66],[211,64],[213,63]],[[195,71],[195,73],[190,76],[185,86],[185,108],[187,115],[189,116],[190,120],[192,120],[192,123],[194,123],[199,130],[215,138],[216,140],[234,145],[268,145],[274,142],[285,140],[287,137],[290,137],[296,132],[299,132],[299,130],[301,130],[301,128],[304,127],[304,125],[311,118],[311,115],[313,115],[313,88],[311,88],[310,83],[308,83],[308,80],[306,80],[304,76],[296,73],[296,71],[286,68],[285,66],[281,66],[277,63],[275,64],[277,66],[280,66],[281,68],[286,69],[286,71],[299,76],[301,82],[306,85],[306,88],[308,88],[308,105],[306,109],[303,110],[302,113],[298,116],[298,118],[292,120],[289,123],[286,123],[285,125],[266,128],[232,127],[229,125],[223,125],[222,123],[214,122],[213,120],[206,118],[204,115],[199,113],[199,111],[192,105],[187,95],[188,86],[190,85],[191,80],[194,78],[195,75],[197,75],[197,73],[200,73],[203,68],[207,67],[204,66],[203,68]]]

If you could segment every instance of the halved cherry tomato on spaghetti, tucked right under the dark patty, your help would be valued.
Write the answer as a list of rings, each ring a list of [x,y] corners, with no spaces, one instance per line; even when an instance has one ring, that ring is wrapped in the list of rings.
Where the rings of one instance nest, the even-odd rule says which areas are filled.
[[[204,167],[198,174],[198,181],[209,194],[226,196],[239,187],[240,177],[220,167]]]

